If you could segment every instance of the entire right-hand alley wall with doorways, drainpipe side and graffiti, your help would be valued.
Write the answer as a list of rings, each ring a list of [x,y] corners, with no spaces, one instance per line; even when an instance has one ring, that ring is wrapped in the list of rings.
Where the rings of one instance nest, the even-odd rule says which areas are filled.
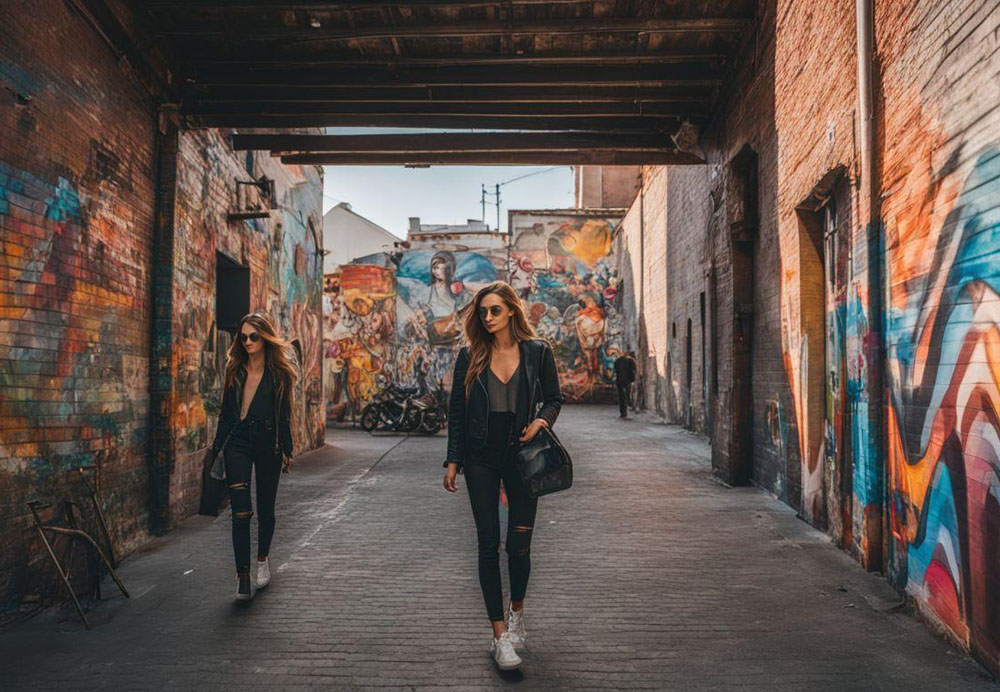
[[[800,510],[1000,672],[997,16],[876,6],[877,221],[855,4],[760,3],[707,164],[647,169],[625,216],[626,340],[644,404],[704,426],[720,477]]]

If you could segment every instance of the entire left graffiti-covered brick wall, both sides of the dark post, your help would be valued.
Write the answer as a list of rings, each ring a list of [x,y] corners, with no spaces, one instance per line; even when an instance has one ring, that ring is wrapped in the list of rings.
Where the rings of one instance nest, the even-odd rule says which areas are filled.
[[[101,466],[119,557],[196,508],[225,345],[216,248],[299,340],[296,446],[322,441],[319,170],[260,161],[283,209],[228,222],[245,155],[159,118],[69,5],[22,9],[0,9],[0,622],[63,598],[28,499],[77,499],[96,534],[75,467]]]

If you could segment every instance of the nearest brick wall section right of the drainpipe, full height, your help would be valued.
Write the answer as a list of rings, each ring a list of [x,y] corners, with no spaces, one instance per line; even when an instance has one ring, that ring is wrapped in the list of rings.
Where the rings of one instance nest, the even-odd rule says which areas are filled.
[[[895,583],[1000,672],[1000,17],[879,4]],[[876,486],[877,487],[877,486]]]

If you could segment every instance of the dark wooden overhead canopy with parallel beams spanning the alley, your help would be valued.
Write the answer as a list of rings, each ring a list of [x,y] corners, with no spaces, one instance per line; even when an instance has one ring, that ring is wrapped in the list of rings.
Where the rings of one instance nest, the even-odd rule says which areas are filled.
[[[452,139],[435,150],[417,139],[379,145],[388,150],[350,148],[356,140],[264,147],[296,162],[415,164],[544,163],[574,153],[689,160],[667,135],[685,121],[707,121],[755,7],[753,0],[132,1],[174,58],[180,112],[193,126],[611,138],[558,150],[529,146],[532,133],[520,145],[516,136],[505,140],[502,150],[483,149],[482,139]],[[648,141],[656,144],[620,148],[637,141],[614,139],[624,135],[655,135]]]

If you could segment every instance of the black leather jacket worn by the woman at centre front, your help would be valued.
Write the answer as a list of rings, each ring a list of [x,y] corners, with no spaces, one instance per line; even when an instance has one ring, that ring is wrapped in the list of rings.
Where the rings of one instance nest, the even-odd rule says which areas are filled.
[[[514,412],[514,429],[519,433],[534,420],[541,418],[549,427],[555,424],[562,407],[559,375],[552,349],[541,340],[522,341],[521,386],[518,389],[517,410]],[[456,463],[461,468],[470,452],[486,444],[489,424],[490,398],[487,389],[487,371],[479,374],[472,385],[468,400],[465,396],[465,373],[469,368],[469,350],[463,347],[455,360],[451,397],[448,402],[448,456],[444,462]]]

